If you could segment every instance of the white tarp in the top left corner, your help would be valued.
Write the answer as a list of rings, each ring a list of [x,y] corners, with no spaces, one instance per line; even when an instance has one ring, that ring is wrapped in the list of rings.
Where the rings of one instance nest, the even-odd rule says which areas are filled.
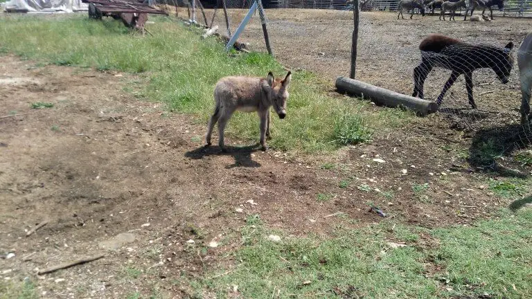
[[[10,0],[3,3],[6,12],[76,12],[89,10],[81,0]]]

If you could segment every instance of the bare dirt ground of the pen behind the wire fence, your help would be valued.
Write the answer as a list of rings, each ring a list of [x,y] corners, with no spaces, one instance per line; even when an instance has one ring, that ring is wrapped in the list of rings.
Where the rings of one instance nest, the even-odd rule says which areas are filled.
[[[206,9],[207,19],[213,10]],[[179,8],[186,17],[186,8]],[[228,9],[231,32],[245,17],[245,9]],[[457,12],[458,13],[458,12]],[[475,11],[475,14],[479,12]],[[413,71],[421,61],[419,44],[431,33],[440,33],[470,44],[504,47],[522,42],[530,27],[530,19],[502,17],[495,14],[490,22],[439,21],[438,15],[414,15],[413,19],[397,19],[397,12],[362,12],[357,47],[357,80],[406,95],[414,90]],[[305,69],[325,75],[331,82],[339,75],[348,75],[351,62],[353,12],[341,10],[267,9],[266,26],[276,55],[292,70]],[[218,12],[214,24],[224,31],[224,13]],[[258,13],[252,17],[239,38],[249,51],[266,52],[262,24]],[[515,49],[511,56],[515,57]],[[465,79],[460,76],[443,98],[439,118],[444,127],[469,129],[500,128],[517,141],[518,148],[532,143],[530,132],[511,127],[520,120],[520,81],[517,65],[511,69],[506,84],[491,69],[472,73],[473,95],[478,110],[468,102]],[[425,99],[436,100],[450,71],[434,68],[425,81]],[[334,83],[332,83],[334,84]],[[515,143],[508,145],[514,147]],[[508,147],[504,145],[504,147]]]

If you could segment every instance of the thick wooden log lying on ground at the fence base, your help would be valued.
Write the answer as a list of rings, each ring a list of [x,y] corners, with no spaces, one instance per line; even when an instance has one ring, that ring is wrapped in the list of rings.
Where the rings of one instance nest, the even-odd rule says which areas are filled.
[[[352,96],[368,98],[378,105],[384,105],[387,107],[407,107],[423,116],[438,111],[438,105],[436,102],[414,98],[402,93],[396,93],[395,91],[376,87],[375,85],[345,78],[343,76],[336,79],[336,89],[339,93],[348,93]]]

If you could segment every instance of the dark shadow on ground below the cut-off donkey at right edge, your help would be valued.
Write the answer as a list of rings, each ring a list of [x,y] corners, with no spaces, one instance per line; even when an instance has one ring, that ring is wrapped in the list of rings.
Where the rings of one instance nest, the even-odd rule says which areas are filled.
[[[512,158],[505,159],[502,163],[499,157],[511,157],[515,150],[524,149],[530,145],[532,145],[532,130],[521,125],[481,129],[473,136],[469,147],[468,162],[472,167],[491,170],[501,176],[526,177],[531,171],[530,165],[521,165]]]

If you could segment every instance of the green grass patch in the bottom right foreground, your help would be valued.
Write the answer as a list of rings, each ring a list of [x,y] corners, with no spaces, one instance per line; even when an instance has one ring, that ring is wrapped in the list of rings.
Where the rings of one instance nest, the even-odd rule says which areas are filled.
[[[529,298],[532,294],[532,211],[515,217],[504,212],[499,219],[468,227],[429,230],[396,225],[393,233],[386,233],[389,226],[383,221],[366,228],[338,229],[328,238],[284,237],[270,242],[269,230],[248,224],[242,228],[247,244],[237,251],[231,271],[200,283],[217,298],[231,298],[228,289],[233,285],[238,285],[242,298],[271,298],[277,291],[286,298],[338,299],[439,299],[482,293]],[[440,245],[416,246],[417,230]],[[414,244],[389,248],[389,237]],[[442,270],[432,272],[435,265]]]

